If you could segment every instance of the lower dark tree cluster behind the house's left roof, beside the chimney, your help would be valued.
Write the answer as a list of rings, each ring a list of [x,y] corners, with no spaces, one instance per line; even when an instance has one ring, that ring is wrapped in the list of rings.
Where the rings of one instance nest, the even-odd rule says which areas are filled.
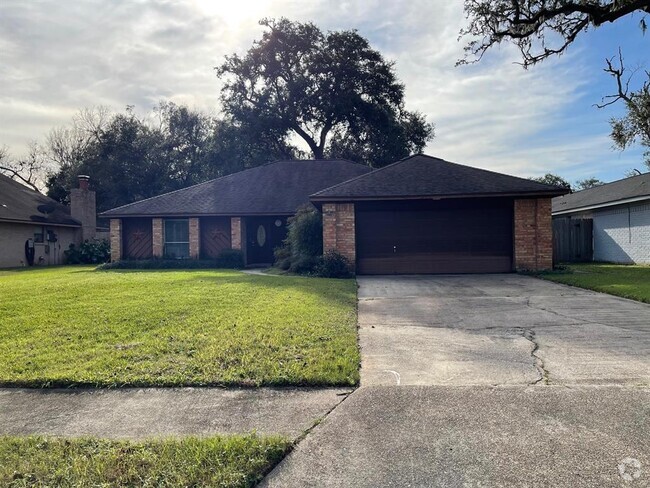
[[[57,168],[48,195],[66,203],[77,175],[88,174],[99,211],[293,156],[289,146],[173,103],[143,118],[132,108],[83,110],[42,151]]]

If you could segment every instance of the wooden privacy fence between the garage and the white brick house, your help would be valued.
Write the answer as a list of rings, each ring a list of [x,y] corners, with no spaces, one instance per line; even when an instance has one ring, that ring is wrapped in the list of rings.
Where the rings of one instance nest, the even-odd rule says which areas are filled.
[[[593,228],[592,219],[553,219],[553,262],[592,261]]]

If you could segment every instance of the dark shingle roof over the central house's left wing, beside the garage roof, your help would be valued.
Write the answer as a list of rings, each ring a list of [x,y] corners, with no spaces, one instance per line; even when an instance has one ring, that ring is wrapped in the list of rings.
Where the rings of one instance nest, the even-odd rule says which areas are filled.
[[[104,217],[290,215],[309,195],[372,171],[343,160],[278,161],[108,210]]]

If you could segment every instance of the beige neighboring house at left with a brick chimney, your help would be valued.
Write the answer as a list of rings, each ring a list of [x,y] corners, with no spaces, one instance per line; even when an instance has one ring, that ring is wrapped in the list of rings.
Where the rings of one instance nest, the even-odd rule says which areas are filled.
[[[63,264],[70,244],[95,237],[95,192],[79,182],[68,208],[0,174],[0,268]]]

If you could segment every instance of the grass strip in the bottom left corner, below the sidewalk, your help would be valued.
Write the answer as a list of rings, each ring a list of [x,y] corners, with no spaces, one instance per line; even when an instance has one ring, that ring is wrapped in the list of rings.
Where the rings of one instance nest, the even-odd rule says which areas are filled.
[[[0,437],[0,485],[254,486],[289,449],[281,437],[115,441]]]

